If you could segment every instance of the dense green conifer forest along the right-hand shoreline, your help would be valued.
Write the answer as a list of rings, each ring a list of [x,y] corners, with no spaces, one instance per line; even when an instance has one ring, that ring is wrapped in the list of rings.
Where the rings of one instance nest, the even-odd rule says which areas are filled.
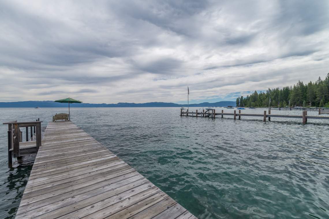
[[[271,102],[269,102],[271,100]],[[238,97],[237,106],[240,107],[329,107],[329,73],[322,80],[320,77],[316,82],[310,81],[304,84],[298,81],[297,84],[284,87],[268,89],[266,92],[257,92],[255,90],[251,95]]]

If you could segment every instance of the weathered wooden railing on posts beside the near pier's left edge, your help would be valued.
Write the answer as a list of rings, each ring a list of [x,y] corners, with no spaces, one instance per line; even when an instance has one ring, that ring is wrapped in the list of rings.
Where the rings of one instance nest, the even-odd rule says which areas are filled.
[[[8,124],[8,167],[13,166],[12,157],[17,157],[17,160],[21,160],[19,143],[23,141],[22,131],[20,128],[26,129],[26,141],[29,141],[29,127],[31,140],[33,137],[32,128],[36,137],[36,149],[38,151],[41,146],[41,122],[37,119],[35,122],[17,122],[17,120],[5,122]]]

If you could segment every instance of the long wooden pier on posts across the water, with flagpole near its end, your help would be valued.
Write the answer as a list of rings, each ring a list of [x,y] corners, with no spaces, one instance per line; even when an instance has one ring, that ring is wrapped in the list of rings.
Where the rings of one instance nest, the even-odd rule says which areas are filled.
[[[319,114],[322,113],[319,111]],[[239,117],[241,119],[241,116],[258,116],[263,117],[263,121],[266,122],[266,118],[268,118],[268,121],[271,121],[271,117],[280,117],[280,118],[301,118],[302,122],[305,124],[308,119],[329,119],[328,116],[308,116],[307,111],[302,111],[302,115],[275,115],[271,114],[271,110],[268,110],[268,113],[266,114],[266,110],[264,110],[264,114],[250,114],[250,113],[241,113],[241,110],[237,113],[236,110],[234,110],[234,113],[224,113],[224,110],[222,109],[221,112],[216,112],[215,109],[207,109],[206,111],[203,109],[202,112],[198,112],[196,110],[195,112],[189,112],[183,111],[181,109],[180,116],[194,116],[194,117],[211,117],[216,118],[216,116],[221,116],[223,118],[224,115],[233,116],[234,119]]]

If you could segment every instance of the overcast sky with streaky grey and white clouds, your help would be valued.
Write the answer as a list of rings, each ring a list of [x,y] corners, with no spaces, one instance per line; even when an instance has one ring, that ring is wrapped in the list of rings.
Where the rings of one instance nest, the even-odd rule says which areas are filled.
[[[329,72],[329,3],[0,0],[0,101],[235,100]]]

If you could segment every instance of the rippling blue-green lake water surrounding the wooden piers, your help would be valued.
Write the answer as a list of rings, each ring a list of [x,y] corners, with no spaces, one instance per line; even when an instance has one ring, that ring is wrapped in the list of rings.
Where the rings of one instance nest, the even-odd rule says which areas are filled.
[[[40,118],[46,126],[53,114],[66,111],[2,108],[0,121]],[[178,108],[71,108],[71,120],[200,219],[329,218],[329,120],[303,125],[301,119],[234,121],[179,113]],[[7,129],[0,126],[0,218],[14,217],[33,162],[8,169]]]

